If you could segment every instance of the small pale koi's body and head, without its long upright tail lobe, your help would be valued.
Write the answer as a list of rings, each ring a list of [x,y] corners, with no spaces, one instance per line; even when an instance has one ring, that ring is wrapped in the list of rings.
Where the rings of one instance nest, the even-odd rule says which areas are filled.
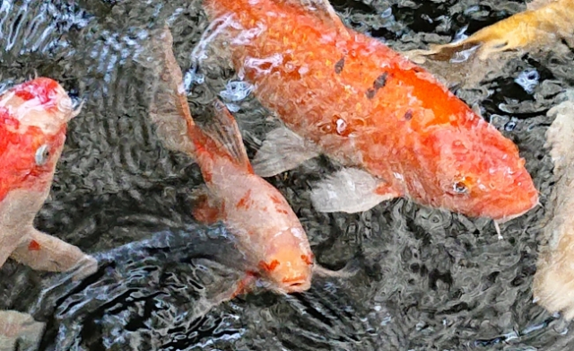
[[[222,103],[216,103],[213,110],[219,115],[214,123],[235,123]],[[242,251],[248,252],[249,258],[257,258],[258,270],[279,290],[305,291],[313,268],[307,234],[283,195],[253,172],[239,144],[239,129],[230,127],[228,131],[234,132],[231,145],[238,146],[238,154],[222,153],[222,146],[202,129],[190,128],[196,161],[208,189],[194,214],[203,222],[221,220],[227,224],[239,237]]]

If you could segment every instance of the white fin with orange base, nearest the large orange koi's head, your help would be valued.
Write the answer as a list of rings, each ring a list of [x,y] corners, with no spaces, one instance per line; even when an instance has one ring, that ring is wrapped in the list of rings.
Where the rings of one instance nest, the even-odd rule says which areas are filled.
[[[370,210],[382,201],[400,196],[399,191],[356,168],[335,172],[311,191],[311,201],[317,211],[349,214]]]

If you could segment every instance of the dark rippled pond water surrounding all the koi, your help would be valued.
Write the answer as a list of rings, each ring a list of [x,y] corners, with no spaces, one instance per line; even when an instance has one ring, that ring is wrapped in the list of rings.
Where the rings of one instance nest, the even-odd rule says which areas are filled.
[[[347,25],[397,50],[448,42],[526,7],[509,0],[332,3]],[[200,4],[1,4],[2,87],[37,73],[85,100],[70,124],[37,225],[97,254],[100,270],[83,282],[13,261],[0,271],[0,309],[30,312],[46,322],[41,349],[574,347],[568,325],[532,302],[543,207],[501,225],[501,240],[489,221],[404,199],[361,215],[317,214],[305,190],[319,178],[317,170],[333,169],[323,157],[270,181],[299,215],[318,262],[342,268],[359,258],[359,273],[350,279],[317,277],[306,294],[249,294],[219,303],[236,282],[242,258],[222,227],[194,224],[189,197],[202,182],[200,173],[186,156],[161,145],[147,118],[155,77],[146,45],[169,21],[178,63],[189,72],[191,52],[207,26]],[[571,62],[571,56],[552,53],[524,55],[488,66],[481,89],[450,84],[517,143],[543,205],[552,185],[543,147],[552,120],[545,113],[573,82]],[[187,75],[192,110],[221,92],[235,104],[230,106],[252,157],[274,125],[271,114],[228,66],[203,71],[203,77]]]

